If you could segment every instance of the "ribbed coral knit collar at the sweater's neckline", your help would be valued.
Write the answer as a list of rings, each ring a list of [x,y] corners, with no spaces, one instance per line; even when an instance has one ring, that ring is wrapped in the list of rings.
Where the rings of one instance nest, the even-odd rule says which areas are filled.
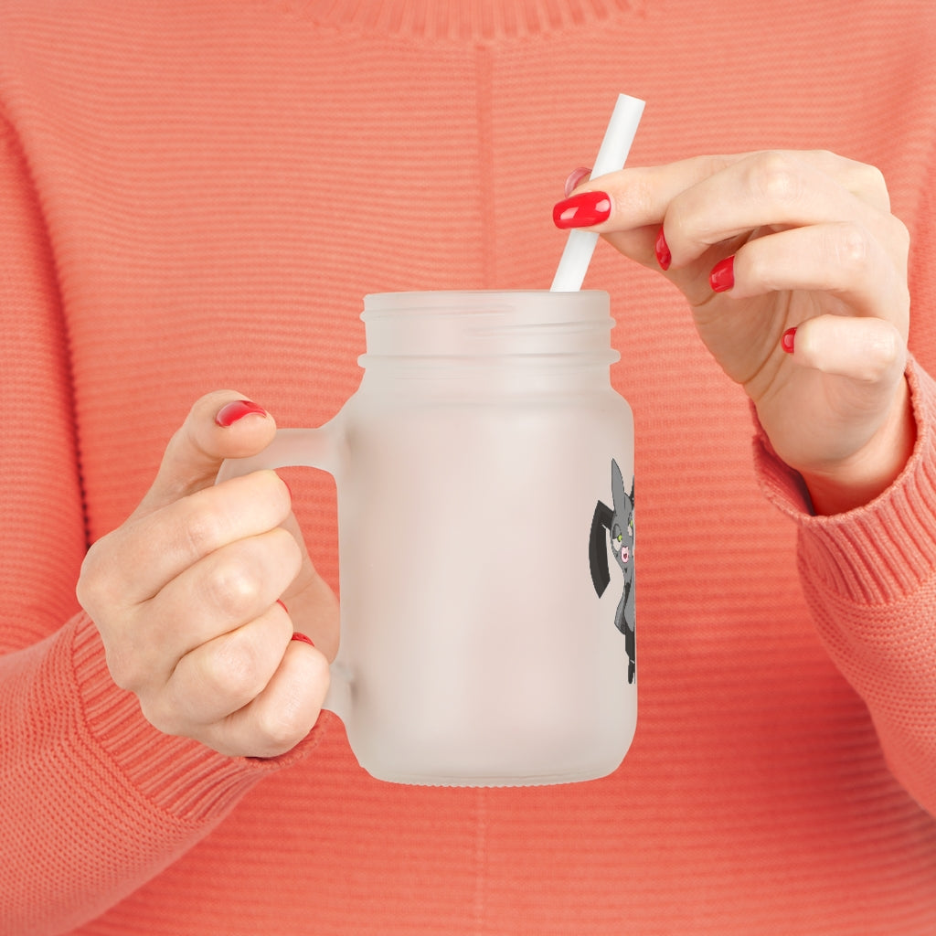
[[[491,41],[603,22],[647,0],[290,0],[303,19],[394,37]]]

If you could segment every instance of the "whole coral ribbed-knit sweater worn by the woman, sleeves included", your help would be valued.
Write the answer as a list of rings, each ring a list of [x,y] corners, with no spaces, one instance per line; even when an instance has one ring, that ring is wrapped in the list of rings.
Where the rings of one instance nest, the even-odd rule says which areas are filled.
[[[932,936],[934,34],[929,0],[0,0],[0,932]],[[907,470],[810,517],[679,294],[600,243],[637,425],[622,767],[436,789],[371,779],[329,715],[271,761],[156,732],[77,605],[88,543],[203,393],[334,415],[365,293],[547,287],[620,91],[634,165],[884,170]],[[289,478],[337,589],[332,483]]]

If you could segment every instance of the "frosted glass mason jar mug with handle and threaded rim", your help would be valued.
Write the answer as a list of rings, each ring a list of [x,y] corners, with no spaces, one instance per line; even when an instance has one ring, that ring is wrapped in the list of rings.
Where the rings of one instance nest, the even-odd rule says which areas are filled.
[[[326,708],[380,780],[605,776],[636,727],[634,427],[604,292],[367,296],[358,390],[260,467],[338,491]]]

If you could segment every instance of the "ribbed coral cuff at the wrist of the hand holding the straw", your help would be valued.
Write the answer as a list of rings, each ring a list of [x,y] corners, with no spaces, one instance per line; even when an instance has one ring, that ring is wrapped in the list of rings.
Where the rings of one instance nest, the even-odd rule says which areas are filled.
[[[812,516],[802,478],[777,457],[759,423],[754,437],[761,485],[799,528],[801,573],[861,604],[897,601],[936,568],[936,384],[913,358],[907,379],[916,420],[914,453],[887,490],[855,510]]]

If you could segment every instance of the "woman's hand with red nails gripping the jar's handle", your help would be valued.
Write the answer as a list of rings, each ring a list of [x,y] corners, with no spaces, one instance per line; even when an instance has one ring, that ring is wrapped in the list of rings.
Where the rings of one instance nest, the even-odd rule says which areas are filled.
[[[110,674],[154,726],[229,755],[271,757],[312,729],[338,607],[272,471],[214,484],[275,423],[231,391],[199,400],[132,516],[88,551],[78,598]],[[289,612],[279,599],[288,603]],[[316,650],[293,640],[293,621]]]

